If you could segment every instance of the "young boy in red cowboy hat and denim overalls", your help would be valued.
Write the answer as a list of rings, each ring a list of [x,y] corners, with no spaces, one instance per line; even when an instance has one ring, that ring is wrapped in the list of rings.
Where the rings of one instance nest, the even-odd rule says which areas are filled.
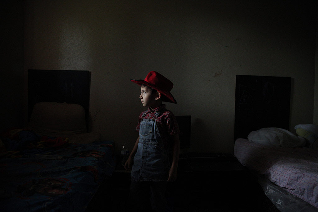
[[[130,200],[135,210],[145,211],[150,204],[154,211],[165,211],[166,185],[177,178],[180,153],[176,117],[162,104],[176,104],[170,93],[173,83],[154,71],[145,80],[131,81],[141,85],[139,98],[148,110],[139,116],[139,137],[125,163],[131,169]]]

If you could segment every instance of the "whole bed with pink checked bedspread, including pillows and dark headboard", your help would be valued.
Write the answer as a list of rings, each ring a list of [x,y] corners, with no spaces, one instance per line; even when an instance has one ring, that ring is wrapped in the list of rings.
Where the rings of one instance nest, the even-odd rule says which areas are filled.
[[[290,132],[294,80],[236,75],[234,155],[273,203],[264,211],[318,211],[318,129]]]

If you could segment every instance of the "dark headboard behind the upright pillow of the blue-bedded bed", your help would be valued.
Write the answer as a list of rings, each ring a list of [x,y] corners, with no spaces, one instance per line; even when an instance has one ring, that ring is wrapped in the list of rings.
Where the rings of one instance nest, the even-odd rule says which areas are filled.
[[[90,81],[89,71],[29,70],[28,121],[36,103],[66,102],[84,107],[88,128]]]

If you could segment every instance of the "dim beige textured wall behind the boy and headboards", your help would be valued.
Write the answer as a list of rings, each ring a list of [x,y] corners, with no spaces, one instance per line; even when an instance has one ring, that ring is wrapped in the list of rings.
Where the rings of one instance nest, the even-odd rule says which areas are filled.
[[[89,70],[92,131],[117,149],[145,110],[129,79],[152,70],[174,82],[167,108],[192,116],[186,151],[232,153],[236,74],[292,77],[291,130],[313,122],[312,5],[184,2],[26,1],[24,74]]]

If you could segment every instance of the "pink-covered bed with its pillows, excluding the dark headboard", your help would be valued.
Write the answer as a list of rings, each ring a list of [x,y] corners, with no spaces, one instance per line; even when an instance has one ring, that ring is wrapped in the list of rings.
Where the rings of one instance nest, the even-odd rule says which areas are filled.
[[[259,178],[280,211],[318,211],[318,126],[296,125],[296,134],[265,127],[235,141],[234,155]]]

